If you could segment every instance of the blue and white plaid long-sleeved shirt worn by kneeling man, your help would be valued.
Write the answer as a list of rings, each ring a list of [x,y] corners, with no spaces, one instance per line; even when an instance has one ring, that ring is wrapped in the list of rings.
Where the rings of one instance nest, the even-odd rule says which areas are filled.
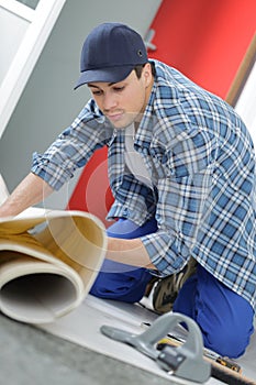
[[[93,100],[43,155],[34,154],[32,172],[58,189],[107,144],[115,198],[108,218],[141,226],[155,216],[158,231],[142,242],[159,273],[180,271],[193,256],[255,308],[252,139],[227,103],[154,62],[155,82],[134,140],[153,188],[127,173],[124,130],[114,130]]]

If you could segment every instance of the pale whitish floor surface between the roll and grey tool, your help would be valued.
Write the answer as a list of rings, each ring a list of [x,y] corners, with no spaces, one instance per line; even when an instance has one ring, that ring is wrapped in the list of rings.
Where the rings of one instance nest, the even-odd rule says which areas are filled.
[[[131,346],[104,337],[100,332],[100,327],[108,324],[133,333],[141,333],[143,332],[142,322],[152,323],[156,317],[154,312],[137,305],[101,300],[88,296],[85,302],[74,312],[60,318],[54,323],[41,326],[41,328],[101,354],[169,378],[169,375],[160,370],[153,360]],[[242,366],[243,374],[254,380],[256,384],[255,358],[256,336],[253,336],[246,354],[237,360],[237,362]],[[180,384],[192,384],[177,377],[174,378]],[[211,377],[205,384],[213,385],[222,383]]]

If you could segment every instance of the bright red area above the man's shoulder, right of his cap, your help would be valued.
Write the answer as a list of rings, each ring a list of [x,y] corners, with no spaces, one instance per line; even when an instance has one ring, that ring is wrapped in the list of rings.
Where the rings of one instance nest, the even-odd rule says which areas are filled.
[[[149,56],[225,98],[256,31],[256,0],[164,0]]]

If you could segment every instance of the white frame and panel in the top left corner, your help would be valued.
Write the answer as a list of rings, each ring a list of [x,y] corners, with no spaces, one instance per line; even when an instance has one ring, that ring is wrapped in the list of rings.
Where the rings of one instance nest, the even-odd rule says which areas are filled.
[[[5,69],[0,82],[0,138],[64,3],[65,0],[41,0],[33,10],[16,0],[0,0],[0,18],[5,21],[2,31],[4,43],[0,51]],[[19,34],[21,31],[16,24],[22,19],[27,21],[27,25],[24,33]]]

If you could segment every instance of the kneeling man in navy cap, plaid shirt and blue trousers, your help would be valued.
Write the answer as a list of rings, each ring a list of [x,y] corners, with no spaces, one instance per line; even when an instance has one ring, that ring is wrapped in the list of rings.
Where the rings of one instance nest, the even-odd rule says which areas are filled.
[[[119,23],[88,35],[82,85],[92,99],[34,154],[0,216],[37,204],[107,145],[116,222],[91,293],[138,301],[153,276],[165,277],[154,295],[159,312],[186,314],[205,346],[242,355],[256,293],[255,155],[244,123],[216,96],[148,61],[142,37]]]

